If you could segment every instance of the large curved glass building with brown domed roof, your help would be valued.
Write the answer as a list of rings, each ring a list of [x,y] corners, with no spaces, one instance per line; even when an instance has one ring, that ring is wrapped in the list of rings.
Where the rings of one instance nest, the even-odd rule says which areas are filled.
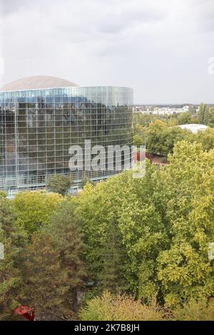
[[[133,144],[133,90],[114,86],[76,86],[55,77],[29,77],[0,90],[0,190],[15,193],[46,186],[51,175],[104,180],[118,173],[69,168],[69,148]],[[122,168],[131,166],[123,153]]]

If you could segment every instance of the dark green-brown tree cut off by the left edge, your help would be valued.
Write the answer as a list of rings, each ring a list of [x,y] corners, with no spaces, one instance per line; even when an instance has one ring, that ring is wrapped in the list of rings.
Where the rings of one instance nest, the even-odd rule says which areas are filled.
[[[0,242],[4,245],[4,259],[0,259],[0,320],[11,319],[19,305],[21,291],[21,253],[24,236],[15,225],[16,216],[10,200],[0,200]]]

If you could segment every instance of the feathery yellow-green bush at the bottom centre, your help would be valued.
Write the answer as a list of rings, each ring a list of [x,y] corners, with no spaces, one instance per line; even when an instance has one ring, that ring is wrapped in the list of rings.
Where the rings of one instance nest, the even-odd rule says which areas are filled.
[[[161,321],[163,312],[156,304],[145,306],[131,296],[104,292],[89,300],[80,311],[82,321]]]

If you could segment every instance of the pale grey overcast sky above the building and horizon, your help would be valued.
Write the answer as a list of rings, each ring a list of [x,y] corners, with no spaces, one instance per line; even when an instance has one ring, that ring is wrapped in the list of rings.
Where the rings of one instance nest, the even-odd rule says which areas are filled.
[[[214,0],[0,0],[1,85],[58,76],[136,103],[214,103]]]

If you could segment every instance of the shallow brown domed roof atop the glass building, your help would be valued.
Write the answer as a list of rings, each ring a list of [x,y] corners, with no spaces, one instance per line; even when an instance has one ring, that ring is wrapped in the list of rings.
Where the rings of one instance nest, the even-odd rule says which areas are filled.
[[[66,79],[57,78],[53,76],[34,76],[18,79],[12,81],[0,88],[1,92],[5,91],[24,91],[24,90],[36,90],[40,88],[58,88],[58,87],[71,87],[78,86],[71,81]]]

